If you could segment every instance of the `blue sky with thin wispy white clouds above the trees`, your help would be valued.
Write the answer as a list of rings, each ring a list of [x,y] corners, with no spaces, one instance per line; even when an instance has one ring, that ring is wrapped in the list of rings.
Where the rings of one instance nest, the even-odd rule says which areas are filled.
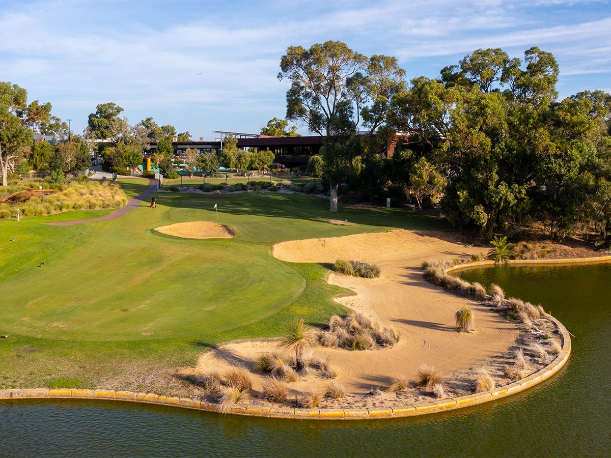
[[[288,46],[340,40],[397,57],[408,80],[478,48],[523,60],[538,46],[558,62],[562,99],[611,92],[610,31],[607,0],[0,0],[0,81],[51,102],[74,133],[114,102],[131,124],[153,117],[213,140],[285,117]]]

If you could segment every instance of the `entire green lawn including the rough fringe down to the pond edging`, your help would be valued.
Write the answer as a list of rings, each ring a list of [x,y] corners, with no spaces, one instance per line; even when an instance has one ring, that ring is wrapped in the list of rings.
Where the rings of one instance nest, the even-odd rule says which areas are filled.
[[[128,197],[145,187],[144,180],[120,183]],[[276,260],[274,243],[447,228],[444,220],[398,209],[331,214],[328,200],[306,195],[156,197],[156,209],[143,202],[108,221],[44,224],[109,213],[104,210],[0,222],[0,333],[9,334],[0,339],[0,388],[64,380],[131,389],[134,367],[139,375],[131,378],[145,379],[145,369],[191,364],[214,343],[280,335],[296,316],[323,324],[343,313],[332,296],[349,291],[324,281],[329,266]],[[358,225],[324,222],[329,218]],[[180,239],[153,230],[191,220],[226,224],[235,238]],[[111,383],[109,374],[123,381]]]

